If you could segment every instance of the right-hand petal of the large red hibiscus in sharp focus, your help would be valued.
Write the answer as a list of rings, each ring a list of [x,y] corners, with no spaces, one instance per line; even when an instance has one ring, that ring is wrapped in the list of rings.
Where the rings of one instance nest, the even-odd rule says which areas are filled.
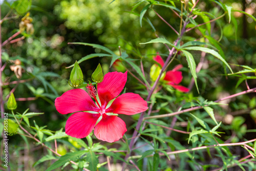
[[[108,113],[135,115],[147,110],[147,102],[140,95],[134,93],[125,93],[118,96],[109,109]]]

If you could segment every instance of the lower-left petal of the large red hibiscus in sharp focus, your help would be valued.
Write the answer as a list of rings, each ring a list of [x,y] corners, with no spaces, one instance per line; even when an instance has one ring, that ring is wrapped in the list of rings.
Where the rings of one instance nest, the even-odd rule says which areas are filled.
[[[75,138],[87,137],[92,131],[100,114],[77,112],[66,123],[66,134]]]

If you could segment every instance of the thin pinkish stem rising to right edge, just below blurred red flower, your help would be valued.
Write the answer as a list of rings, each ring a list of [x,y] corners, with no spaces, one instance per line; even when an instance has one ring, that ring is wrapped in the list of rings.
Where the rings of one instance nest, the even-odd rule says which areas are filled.
[[[236,97],[236,96],[240,96],[240,95],[243,95],[243,94],[247,94],[247,93],[253,93],[255,91],[256,91],[256,88],[253,88],[253,89],[250,89],[250,90],[246,90],[246,91],[243,91],[243,92],[240,92],[240,93],[237,93],[237,94],[233,94],[233,95],[224,97],[224,98],[219,99],[219,100],[215,100],[214,102],[223,101],[223,100],[226,100],[226,99],[229,99],[229,98],[233,98],[233,97]],[[204,105],[204,106],[208,106],[208,105]],[[202,109],[204,106],[191,107],[191,108],[188,108],[188,109],[184,109],[182,111],[178,111],[178,112],[174,112],[174,113],[168,113],[168,114],[163,114],[163,115],[148,116],[148,117],[145,117],[143,120],[174,116],[174,115],[182,114],[182,113],[185,113],[185,112],[199,110],[199,109]]]

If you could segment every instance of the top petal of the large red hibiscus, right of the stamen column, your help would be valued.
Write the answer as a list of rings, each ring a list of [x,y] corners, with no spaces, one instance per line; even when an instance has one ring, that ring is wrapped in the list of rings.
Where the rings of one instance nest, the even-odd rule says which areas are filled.
[[[108,102],[116,98],[124,88],[127,80],[127,71],[121,72],[109,72],[104,76],[102,82],[98,83],[98,94],[102,105],[108,104]]]

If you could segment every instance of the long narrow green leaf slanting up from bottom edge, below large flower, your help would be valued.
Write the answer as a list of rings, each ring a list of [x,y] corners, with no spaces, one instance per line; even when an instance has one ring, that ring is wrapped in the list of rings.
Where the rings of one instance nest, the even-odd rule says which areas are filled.
[[[64,165],[67,162],[70,162],[71,160],[75,160],[77,157],[83,155],[84,153],[86,153],[86,152],[78,151],[78,152],[73,152],[73,153],[67,153],[64,156],[60,156],[59,160],[57,160],[50,167],[48,167],[46,171],[51,171],[55,168],[58,168],[58,167]]]

